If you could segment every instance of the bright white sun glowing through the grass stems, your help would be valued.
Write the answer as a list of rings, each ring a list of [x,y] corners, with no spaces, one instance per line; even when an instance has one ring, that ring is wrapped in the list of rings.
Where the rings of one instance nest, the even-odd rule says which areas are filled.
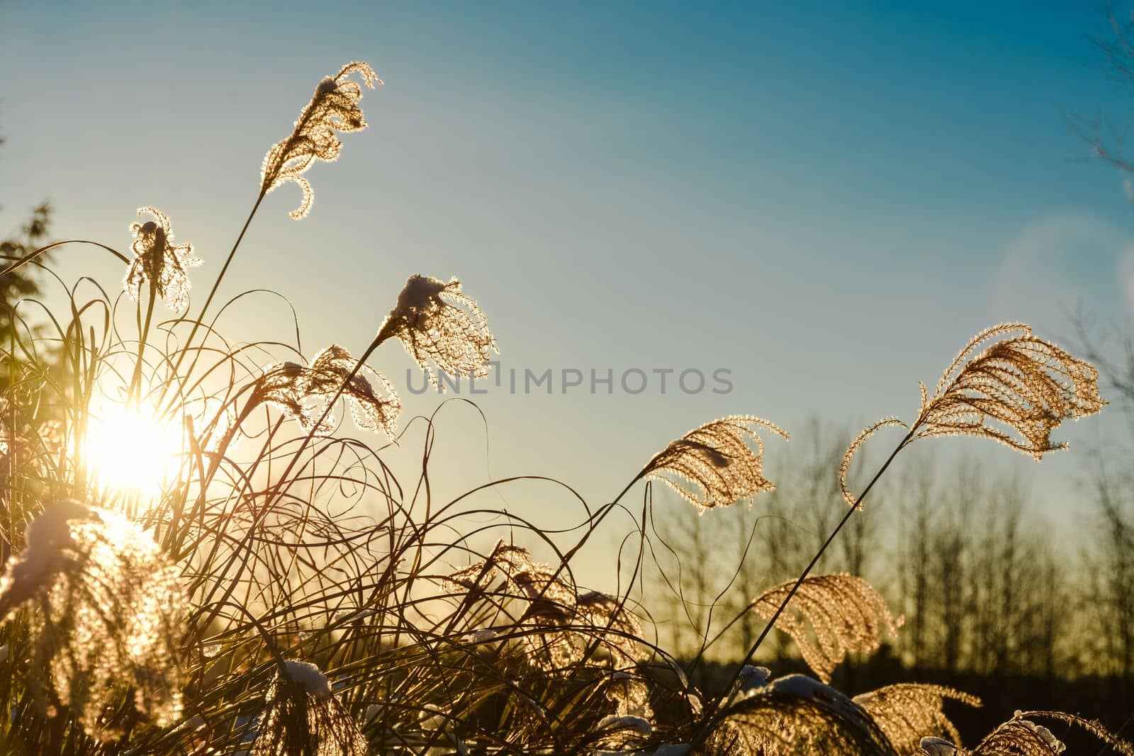
[[[149,407],[107,405],[93,414],[86,455],[100,487],[154,493],[180,450],[180,428]]]

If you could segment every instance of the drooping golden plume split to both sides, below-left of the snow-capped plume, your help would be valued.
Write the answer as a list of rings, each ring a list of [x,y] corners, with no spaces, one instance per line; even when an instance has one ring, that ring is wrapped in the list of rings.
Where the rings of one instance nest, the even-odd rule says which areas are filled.
[[[344,383],[354,366],[350,352],[332,343],[315,355],[306,367],[289,362],[266,369],[256,380],[249,405],[273,405],[310,431],[322,417],[327,402],[341,388],[359,430],[381,431],[395,438],[401,399],[382,374],[365,365],[349,382]],[[315,428],[316,433],[329,433],[330,430],[330,418]]]

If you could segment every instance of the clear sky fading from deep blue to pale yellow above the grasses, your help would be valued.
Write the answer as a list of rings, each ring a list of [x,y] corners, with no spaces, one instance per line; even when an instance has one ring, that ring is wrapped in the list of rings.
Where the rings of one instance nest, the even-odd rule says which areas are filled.
[[[1080,303],[1127,317],[1131,207],[1065,116],[1129,114],[1089,39],[1103,17],[987,6],[0,0],[0,231],[50,197],[57,237],[125,249],[153,204],[205,289],[263,153],[322,76],[365,60],[386,80],[371,128],[307,175],[310,218],[287,216],[295,186],[269,196],[222,291],[276,289],[308,354],[357,351],[409,273],[457,275],[507,367],[730,369],[725,396],[491,391],[488,458],[467,408],[442,415],[455,489],[490,460],[601,501],[708,419],[909,417],[917,381],[987,325],[1059,339]],[[76,278],[121,274],[65,254]],[[249,303],[230,328],[285,314]],[[371,364],[403,385],[411,363],[389,347]],[[1081,423],[1039,468],[943,443],[1025,470],[1038,508],[1077,518],[1064,499],[1109,426]],[[577,519],[541,496],[509,504]]]

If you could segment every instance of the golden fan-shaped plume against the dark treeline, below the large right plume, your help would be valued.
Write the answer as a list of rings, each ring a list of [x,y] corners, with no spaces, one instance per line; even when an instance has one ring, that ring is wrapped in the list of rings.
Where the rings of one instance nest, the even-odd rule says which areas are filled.
[[[752,611],[771,619],[794,585],[792,580],[761,594],[752,601]],[[776,620],[776,628],[795,640],[803,661],[824,682],[847,654],[877,651],[883,631],[896,637],[900,625],[886,600],[853,575],[806,578]]]

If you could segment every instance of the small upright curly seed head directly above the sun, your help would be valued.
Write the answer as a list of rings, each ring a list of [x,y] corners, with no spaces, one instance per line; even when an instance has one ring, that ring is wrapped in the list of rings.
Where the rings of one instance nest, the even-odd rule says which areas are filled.
[[[189,304],[189,267],[201,264],[193,255],[192,244],[174,244],[169,216],[155,207],[141,207],[138,215],[149,213],[154,220],[132,223],[134,260],[126,271],[124,286],[130,299],[142,296],[142,284],[150,281],[164,303],[175,313]]]

